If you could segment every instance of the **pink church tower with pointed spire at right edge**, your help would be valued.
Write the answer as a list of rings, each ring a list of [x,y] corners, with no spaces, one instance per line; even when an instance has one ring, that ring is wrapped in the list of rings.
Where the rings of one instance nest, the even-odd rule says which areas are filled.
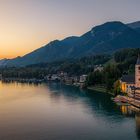
[[[135,87],[140,87],[140,55],[135,65]]]

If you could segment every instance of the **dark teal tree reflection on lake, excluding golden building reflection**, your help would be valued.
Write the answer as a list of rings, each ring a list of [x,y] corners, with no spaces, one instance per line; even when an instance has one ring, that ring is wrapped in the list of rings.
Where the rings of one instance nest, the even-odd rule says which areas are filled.
[[[119,106],[111,100],[111,95],[105,93],[97,93],[93,91],[83,91],[79,88],[66,86],[58,83],[48,84],[50,96],[59,100],[63,97],[68,102],[81,102],[90,113],[98,116],[107,116],[109,121],[122,121],[123,116]]]

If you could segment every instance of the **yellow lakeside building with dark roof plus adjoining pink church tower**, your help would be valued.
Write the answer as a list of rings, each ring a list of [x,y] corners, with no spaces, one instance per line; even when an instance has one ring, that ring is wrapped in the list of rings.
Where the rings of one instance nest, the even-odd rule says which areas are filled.
[[[135,65],[135,74],[123,75],[120,79],[120,88],[123,93],[132,94],[135,92],[136,95],[140,93],[140,56],[138,56]]]

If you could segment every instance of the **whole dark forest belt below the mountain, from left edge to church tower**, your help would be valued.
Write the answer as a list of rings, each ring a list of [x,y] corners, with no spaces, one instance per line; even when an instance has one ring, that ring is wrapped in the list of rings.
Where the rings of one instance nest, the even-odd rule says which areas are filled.
[[[43,79],[47,75],[61,72],[69,77],[86,74],[86,87],[102,87],[107,92],[120,93],[119,78],[133,74],[140,49],[122,49],[112,55],[91,55],[87,57],[41,63],[26,67],[0,68],[3,78]],[[95,67],[103,67],[96,69]]]

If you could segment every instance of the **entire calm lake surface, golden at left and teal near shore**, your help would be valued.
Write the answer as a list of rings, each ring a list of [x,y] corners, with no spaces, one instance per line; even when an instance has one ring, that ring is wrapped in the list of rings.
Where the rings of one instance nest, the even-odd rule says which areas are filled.
[[[0,83],[0,140],[138,140],[140,115],[57,83]]]

